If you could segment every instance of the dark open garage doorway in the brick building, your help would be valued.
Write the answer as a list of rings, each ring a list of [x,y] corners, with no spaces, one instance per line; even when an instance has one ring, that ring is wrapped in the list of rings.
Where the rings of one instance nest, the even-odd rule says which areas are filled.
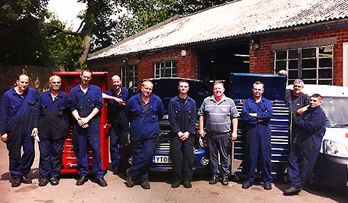
[[[212,86],[214,81],[223,81],[228,91],[230,73],[249,72],[248,42],[228,47],[214,47],[198,51],[199,79]]]

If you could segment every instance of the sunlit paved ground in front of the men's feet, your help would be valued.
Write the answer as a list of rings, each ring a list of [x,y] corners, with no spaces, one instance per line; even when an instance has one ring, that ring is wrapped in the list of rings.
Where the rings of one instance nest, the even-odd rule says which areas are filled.
[[[36,146],[36,151],[38,152]],[[262,186],[253,186],[243,190],[241,184],[230,182],[228,186],[207,184],[207,176],[198,174],[193,181],[193,188],[171,188],[171,174],[150,174],[150,190],[143,190],[140,186],[127,188],[125,180],[106,174],[109,186],[101,188],[92,181],[84,186],[75,186],[76,176],[65,176],[58,186],[38,186],[38,153],[31,170],[30,177],[33,184],[22,184],[18,188],[11,188],[8,172],[8,151],[6,145],[0,144],[0,202],[348,202],[336,190],[315,192],[302,191],[301,195],[283,196],[282,190],[286,184],[276,182],[272,190],[264,190]]]

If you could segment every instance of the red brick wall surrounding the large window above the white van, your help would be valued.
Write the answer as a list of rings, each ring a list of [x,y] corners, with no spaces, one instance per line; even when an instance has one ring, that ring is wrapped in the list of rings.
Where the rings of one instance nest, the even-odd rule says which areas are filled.
[[[337,39],[333,51],[333,84],[342,86],[342,44],[348,42],[348,27],[327,29],[325,31],[291,33],[283,35],[281,38],[269,36],[267,38],[262,38],[260,39],[260,49],[250,50],[250,72],[274,72],[274,52],[270,48],[271,44],[324,38]]]

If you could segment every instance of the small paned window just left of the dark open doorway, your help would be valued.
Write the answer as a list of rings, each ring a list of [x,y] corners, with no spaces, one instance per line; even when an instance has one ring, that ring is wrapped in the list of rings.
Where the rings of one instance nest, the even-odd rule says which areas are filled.
[[[177,76],[177,61],[176,60],[154,63],[154,66],[155,66],[155,78]]]

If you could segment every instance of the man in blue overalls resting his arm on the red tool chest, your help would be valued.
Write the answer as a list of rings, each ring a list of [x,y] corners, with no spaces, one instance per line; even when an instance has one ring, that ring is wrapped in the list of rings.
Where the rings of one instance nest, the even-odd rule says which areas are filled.
[[[120,76],[111,77],[112,88],[102,93],[103,98],[107,99],[108,121],[111,124],[109,129],[110,136],[110,155],[113,174],[118,174],[120,167],[120,148],[123,140],[129,133],[129,122],[125,115],[125,105],[128,99],[127,88],[122,88]]]

